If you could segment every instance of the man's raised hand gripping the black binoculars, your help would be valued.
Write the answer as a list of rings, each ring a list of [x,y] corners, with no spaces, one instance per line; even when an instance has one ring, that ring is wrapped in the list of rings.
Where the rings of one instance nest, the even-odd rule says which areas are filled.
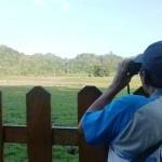
[[[124,59],[118,67],[116,77],[110,85],[117,92],[120,92],[122,89],[124,89],[133,77],[129,73],[130,62],[131,59]]]

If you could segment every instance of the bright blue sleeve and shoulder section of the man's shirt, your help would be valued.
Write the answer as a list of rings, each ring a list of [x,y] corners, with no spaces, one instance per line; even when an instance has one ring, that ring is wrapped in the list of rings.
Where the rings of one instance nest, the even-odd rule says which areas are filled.
[[[124,130],[134,113],[156,98],[156,94],[149,98],[139,95],[126,95],[114,99],[102,110],[87,111],[82,118],[86,141],[91,145],[108,144],[112,146],[113,140]]]

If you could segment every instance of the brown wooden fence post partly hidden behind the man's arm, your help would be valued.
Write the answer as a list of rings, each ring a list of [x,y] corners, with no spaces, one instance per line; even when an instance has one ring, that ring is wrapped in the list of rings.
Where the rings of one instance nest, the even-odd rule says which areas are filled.
[[[90,105],[102,95],[95,86],[85,86],[78,94],[78,121]],[[106,162],[107,149],[104,146],[92,147],[86,145],[84,138],[79,135],[79,162]]]

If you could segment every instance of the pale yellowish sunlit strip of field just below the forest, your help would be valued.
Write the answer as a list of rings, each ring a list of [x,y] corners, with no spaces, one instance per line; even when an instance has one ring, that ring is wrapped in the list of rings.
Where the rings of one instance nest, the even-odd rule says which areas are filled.
[[[85,85],[96,85],[98,87],[107,87],[113,77],[0,77],[0,85],[3,86],[75,86],[81,87]],[[138,77],[134,77],[132,86],[140,85]]]

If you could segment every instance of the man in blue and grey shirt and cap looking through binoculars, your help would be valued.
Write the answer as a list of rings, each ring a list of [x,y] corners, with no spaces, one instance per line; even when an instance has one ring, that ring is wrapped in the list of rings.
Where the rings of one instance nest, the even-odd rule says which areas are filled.
[[[133,77],[127,72],[130,62],[122,62],[110,86],[90,106],[79,124],[89,144],[110,147],[109,162],[138,162],[143,152],[149,156],[146,150],[162,139],[162,41],[149,45],[140,55],[139,76],[149,97],[125,95],[113,99]],[[161,154],[159,149],[141,161],[161,161]]]

